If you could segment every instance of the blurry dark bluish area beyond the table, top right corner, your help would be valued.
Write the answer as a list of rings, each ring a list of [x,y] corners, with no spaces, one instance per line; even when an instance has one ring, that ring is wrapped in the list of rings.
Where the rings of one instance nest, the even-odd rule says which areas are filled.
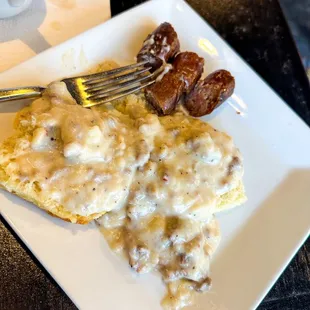
[[[279,0],[310,80],[310,0]]]

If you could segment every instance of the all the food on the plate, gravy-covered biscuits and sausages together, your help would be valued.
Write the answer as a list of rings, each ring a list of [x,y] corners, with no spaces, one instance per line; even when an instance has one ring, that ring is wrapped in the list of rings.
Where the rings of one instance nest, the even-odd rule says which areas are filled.
[[[96,219],[132,270],[161,274],[170,310],[209,289],[215,214],[246,200],[232,138],[178,105],[184,97],[192,116],[209,114],[233,93],[234,78],[219,70],[198,81],[203,58],[179,48],[173,27],[161,24],[138,55],[162,66],[156,83],[113,103],[86,109],[63,82],[50,84],[0,148],[1,187],[63,220]]]

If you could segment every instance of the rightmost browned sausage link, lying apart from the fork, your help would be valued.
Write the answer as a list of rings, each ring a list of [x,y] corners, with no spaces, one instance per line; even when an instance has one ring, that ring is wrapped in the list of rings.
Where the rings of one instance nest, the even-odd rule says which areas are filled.
[[[184,106],[192,116],[210,114],[229,98],[235,89],[235,79],[226,70],[218,70],[199,81],[185,98]]]

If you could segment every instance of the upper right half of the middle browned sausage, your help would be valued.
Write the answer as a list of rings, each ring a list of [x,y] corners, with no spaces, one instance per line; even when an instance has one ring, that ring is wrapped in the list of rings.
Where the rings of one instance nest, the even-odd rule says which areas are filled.
[[[184,92],[189,94],[201,78],[204,59],[193,52],[184,52],[177,55],[173,61],[174,70],[182,76],[185,83]]]

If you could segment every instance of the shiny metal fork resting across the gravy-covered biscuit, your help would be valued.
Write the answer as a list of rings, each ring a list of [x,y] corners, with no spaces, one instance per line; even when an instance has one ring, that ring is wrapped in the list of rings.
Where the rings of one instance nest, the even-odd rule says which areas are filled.
[[[151,66],[144,61],[100,73],[66,78],[62,82],[67,85],[78,104],[91,107],[122,98],[153,84],[163,68],[153,73],[149,72],[150,69]],[[44,90],[45,87],[40,86],[0,89],[0,103],[40,97]]]

